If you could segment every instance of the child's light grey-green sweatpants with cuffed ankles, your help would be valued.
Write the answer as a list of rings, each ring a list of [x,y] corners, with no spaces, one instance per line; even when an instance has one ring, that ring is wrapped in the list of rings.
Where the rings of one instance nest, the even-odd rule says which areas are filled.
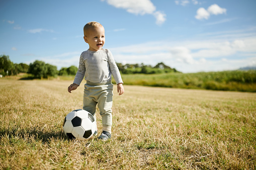
[[[96,118],[96,105],[102,116],[102,125],[112,125],[112,101],[113,84],[111,81],[105,83],[91,83],[87,81],[84,84],[83,91],[83,110],[90,112]]]

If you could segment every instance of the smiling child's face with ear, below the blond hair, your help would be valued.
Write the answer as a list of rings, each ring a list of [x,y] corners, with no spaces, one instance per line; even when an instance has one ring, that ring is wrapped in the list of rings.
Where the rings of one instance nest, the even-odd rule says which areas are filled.
[[[90,29],[83,39],[89,44],[90,51],[99,51],[105,44],[105,30],[103,27]]]

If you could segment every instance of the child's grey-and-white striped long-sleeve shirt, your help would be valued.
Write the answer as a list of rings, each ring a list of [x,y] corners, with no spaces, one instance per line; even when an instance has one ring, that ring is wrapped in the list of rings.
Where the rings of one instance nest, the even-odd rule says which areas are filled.
[[[110,50],[87,50],[80,55],[79,67],[73,83],[80,85],[83,77],[92,83],[107,82],[111,80],[111,75],[113,75],[116,84],[123,83],[119,69]]]

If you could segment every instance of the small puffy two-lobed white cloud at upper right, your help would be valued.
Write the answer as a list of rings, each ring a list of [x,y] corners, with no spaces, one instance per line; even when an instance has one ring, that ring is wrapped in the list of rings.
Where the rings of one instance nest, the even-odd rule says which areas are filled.
[[[204,8],[199,8],[197,10],[197,15],[195,16],[195,18],[198,20],[208,20],[210,18],[210,15],[226,14],[226,11],[226,9],[220,8],[217,4],[213,4],[207,10],[205,10]]]

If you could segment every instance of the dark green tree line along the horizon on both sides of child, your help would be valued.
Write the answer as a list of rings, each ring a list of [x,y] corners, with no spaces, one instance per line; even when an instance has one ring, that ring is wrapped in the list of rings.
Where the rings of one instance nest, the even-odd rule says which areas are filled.
[[[117,63],[118,69],[122,74],[160,74],[160,73],[170,73],[179,72],[175,68],[170,68],[164,63],[158,63],[154,67],[151,65],[141,64],[121,64]],[[14,64],[9,56],[0,56],[0,75],[10,76],[17,75],[19,73],[29,73],[32,74],[34,78],[48,78],[67,75],[75,75],[77,72],[76,66],[62,67],[59,71],[57,67],[43,61],[36,60],[29,65],[25,63]]]

